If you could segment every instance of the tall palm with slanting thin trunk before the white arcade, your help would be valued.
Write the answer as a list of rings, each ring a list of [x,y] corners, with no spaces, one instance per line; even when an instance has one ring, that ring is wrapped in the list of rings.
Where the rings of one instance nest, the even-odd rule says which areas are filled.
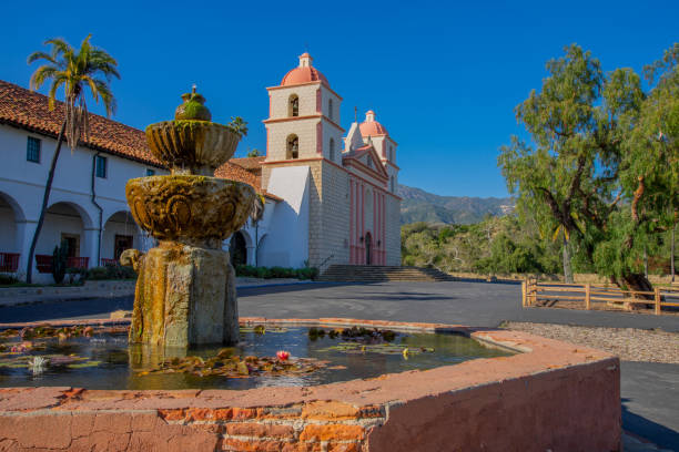
[[[51,45],[49,53],[34,52],[28,58],[29,64],[38,60],[45,61],[45,63],[38,68],[36,72],[33,72],[33,75],[31,75],[31,90],[39,90],[44,82],[50,80],[49,107],[50,110],[54,110],[57,91],[63,86],[65,115],[61,124],[61,131],[57,137],[57,148],[54,150],[52,164],[44,185],[42,208],[31,242],[31,249],[28,256],[28,268],[26,271],[27,282],[31,282],[33,253],[36,253],[38,237],[40,236],[40,230],[44,223],[44,215],[63,138],[65,136],[67,143],[71,147],[71,152],[73,152],[79,140],[87,140],[89,135],[85,90],[89,88],[90,94],[95,102],[99,102],[101,97],[109,117],[115,111],[115,99],[111,93],[109,83],[113,76],[120,79],[120,74],[116,70],[118,62],[105,51],[90,44],[91,37],[91,34],[88,34],[80,44],[79,50],[73,49],[63,39],[50,39],[44,42],[45,45]],[[100,79],[99,76],[101,75],[103,75],[105,80]]]

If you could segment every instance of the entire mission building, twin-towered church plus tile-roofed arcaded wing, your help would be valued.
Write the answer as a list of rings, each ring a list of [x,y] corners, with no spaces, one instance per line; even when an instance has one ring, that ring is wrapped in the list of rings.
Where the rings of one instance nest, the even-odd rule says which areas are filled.
[[[267,88],[266,155],[232,158],[215,176],[245,182],[264,214],[224,243],[234,264],[317,267],[399,265],[397,144],[368,111],[346,132],[342,97],[308,53]],[[26,270],[64,106],[0,81],[0,273]],[[47,282],[55,245],[69,243],[70,267],[113,265],[126,248],[153,239],[132,219],[128,179],[168,170],[143,131],[90,114],[90,135],[62,152],[38,246],[34,274]],[[346,133],[345,133],[346,132]]]

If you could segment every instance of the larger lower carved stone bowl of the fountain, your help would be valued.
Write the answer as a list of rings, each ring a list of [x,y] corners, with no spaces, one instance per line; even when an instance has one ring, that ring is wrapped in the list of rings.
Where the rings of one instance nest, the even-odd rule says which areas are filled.
[[[255,197],[242,182],[199,175],[133,178],[125,186],[132,216],[161,240],[221,240],[246,222]]]

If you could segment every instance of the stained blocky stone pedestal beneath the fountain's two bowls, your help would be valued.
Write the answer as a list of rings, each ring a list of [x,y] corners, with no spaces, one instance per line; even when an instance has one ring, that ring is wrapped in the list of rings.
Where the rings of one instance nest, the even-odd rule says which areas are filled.
[[[237,319],[229,253],[162,242],[141,258],[130,329],[133,342],[235,343]]]

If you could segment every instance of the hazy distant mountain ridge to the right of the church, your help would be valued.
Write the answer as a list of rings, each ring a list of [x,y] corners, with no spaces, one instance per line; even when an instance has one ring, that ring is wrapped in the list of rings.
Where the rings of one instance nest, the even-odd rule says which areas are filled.
[[[514,212],[510,197],[440,196],[420,188],[398,185],[401,224],[426,222],[447,224],[472,224],[486,215],[503,216]]]

